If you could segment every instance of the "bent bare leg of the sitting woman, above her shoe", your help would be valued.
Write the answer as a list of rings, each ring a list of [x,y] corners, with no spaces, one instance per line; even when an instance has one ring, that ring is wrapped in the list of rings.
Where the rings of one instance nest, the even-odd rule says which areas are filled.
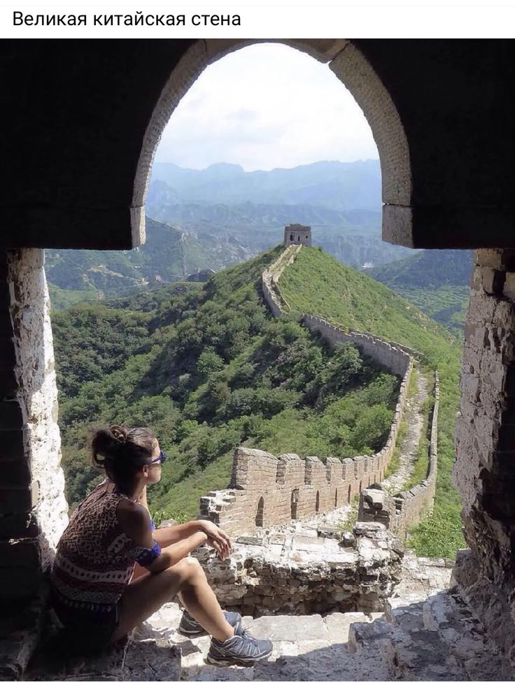
[[[208,633],[217,640],[234,635],[199,562],[185,557],[158,574],[148,572],[129,583],[120,600],[120,624],[112,640],[132,631],[179,592],[188,612]]]

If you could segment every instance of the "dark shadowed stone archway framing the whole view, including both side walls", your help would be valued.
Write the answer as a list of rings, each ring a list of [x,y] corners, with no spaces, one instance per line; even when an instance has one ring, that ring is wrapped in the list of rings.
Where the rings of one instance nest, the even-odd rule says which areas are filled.
[[[3,60],[12,73],[5,93],[11,98],[5,107],[5,158],[14,162],[2,188],[5,229],[0,236],[4,256],[12,259],[0,266],[5,323],[2,424],[10,439],[0,482],[5,513],[0,565],[8,597],[21,585],[20,570],[29,573],[29,565],[42,566],[40,531],[43,543],[53,542],[50,527],[39,528],[39,519],[48,522],[54,510],[43,511],[39,505],[43,500],[49,508],[52,504],[48,490],[41,488],[38,495],[38,480],[27,467],[27,433],[34,427],[34,436],[58,452],[55,435],[43,421],[32,420],[16,396],[18,389],[29,396],[34,388],[30,367],[37,345],[44,344],[49,333],[43,306],[37,303],[45,305],[44,297],[28,294],[29,308],[37,303],[29,311],[34,337],[24,336],[24,307],[19,306],[24,296],[18,300],[13,292],[23,261],[31,260],[31,278],[41,278],[37,261],[45,247],[138,245],[148,169],[174,102],[207,64],[256,41],[177,41],[175,50],[168,47],[173,41],[149,41],[140,52],[137,41],[122,41],[116,50],[95,43],[83,59],[77,59],[80,52],[73,45],[79,41],[59,45],[58,54],[51,44],[43,51],[32,42],[19,48],[9,44],[8,59]],[[477,587],[479,596],[486,596],[488,587],[500,590],[507,619],[497,619],[498,627],[504,624],[502,628],[514,631],[509,616],[515,585],[509,445],[515,357],[510,115],[515,49],[506,41],[482,43],[481,50],[476,41],[281,42],[330,62],[362,106],[381,157],[383,236],[412,247],[480,250],[465,328],[456,478],[467,540],[481,569],[469,572],[472,584],[485,582],[483,589]],[[87,49],[80,47],[84,53]],[[424,88],[417,88],[421,74],[428,78]],[[27,82],[41,105],[37,110],[20,107],[27,98]],[[488,92],[483,96],[485,84]],[[38,122],[41,110],[43,123]],[[498,125],[484,127],[493,113]],[[84,164],[86,158],[94,161]],[[38,159],[45,160],[44,174]],[[23,187],[15,172],[21,168],[27,171]],[[27,247],[38,249],[31,252]],[[51,395],[49,391],[45,396],[50,415],[57,410]],[[13,465],[15,461],[20,462]]]

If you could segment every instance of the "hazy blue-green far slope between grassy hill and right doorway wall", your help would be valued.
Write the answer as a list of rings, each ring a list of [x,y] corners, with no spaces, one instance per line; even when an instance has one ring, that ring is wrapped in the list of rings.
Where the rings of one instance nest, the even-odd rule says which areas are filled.
[[[470,251],[424,250],[407,259],[369,268],[367,274],[460,335],[471,269]]]

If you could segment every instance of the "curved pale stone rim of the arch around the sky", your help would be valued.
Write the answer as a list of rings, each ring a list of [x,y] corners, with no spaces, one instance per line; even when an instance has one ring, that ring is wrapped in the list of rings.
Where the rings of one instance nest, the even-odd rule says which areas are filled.
[[[372,129],[379,152],[382,194],[386,203],[383,210],[383,235],[398,231],[398,212],[389,207],[405,208],[411,202],[411,162],[407,136],[388,90],[372,65],[351,41],[318,38],[276,41],[206,40],[196,41],[175,66],[147,124],[134,176],[131,204],[131,226],[135,244],[139,244],[137,240],[141,238],[144,240],[143,205],[155,150],[179,101],[206,66],[229,52],[264,42],[289,45],[306,52],[319,62],[329,64],[334,75],[353,94]]]

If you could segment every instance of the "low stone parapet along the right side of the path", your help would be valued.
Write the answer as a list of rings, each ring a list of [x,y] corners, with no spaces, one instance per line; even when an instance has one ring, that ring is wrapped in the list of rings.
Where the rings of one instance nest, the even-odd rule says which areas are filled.
[[[435,372],[435,404],[430,415],[428,470],[425,478],[407,491],[390,496],[382,489],[365,489],[360,494],[360,522],[381,522],[400,538],[406,538],[409,526],[432,512],[437,485],[439,383]]]

